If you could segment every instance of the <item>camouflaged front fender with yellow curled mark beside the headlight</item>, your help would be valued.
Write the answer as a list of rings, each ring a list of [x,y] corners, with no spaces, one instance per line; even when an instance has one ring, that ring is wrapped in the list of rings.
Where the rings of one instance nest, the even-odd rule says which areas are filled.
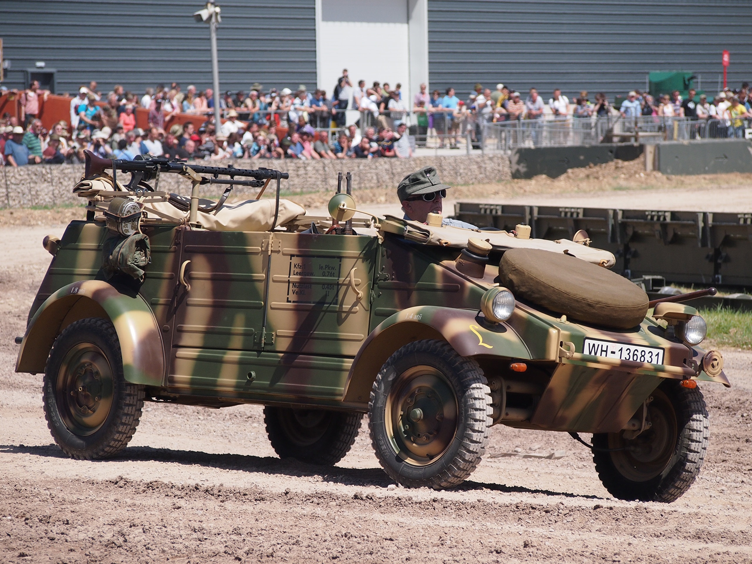
[[[365,339],[347,374],[344,401],[368,402],[371,386],[384,362],[403,345],[423,339],[447,341],[462,356],[532,358],[511,326],[491,326],[478,317],[478,311],[437,306],[408,308],[388,317]]]

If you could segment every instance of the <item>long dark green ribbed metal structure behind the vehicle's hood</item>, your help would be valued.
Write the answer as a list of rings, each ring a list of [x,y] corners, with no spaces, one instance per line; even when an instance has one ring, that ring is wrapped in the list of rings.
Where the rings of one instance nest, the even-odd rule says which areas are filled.
[[[617,257],[629,278],[659,275],[681,284],[752,287],[752,213],[646,211],[458,202],[454,217],[532,237],[572,239],[584,229],[593,247]]]

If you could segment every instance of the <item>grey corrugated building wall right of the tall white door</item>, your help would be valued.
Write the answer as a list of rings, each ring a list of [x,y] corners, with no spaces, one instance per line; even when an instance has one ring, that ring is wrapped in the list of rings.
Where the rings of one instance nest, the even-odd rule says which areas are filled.
[[[749,0],[429,0],[428,18],[430,86],[461,99],[502,82],[592,100],[644,89],[648,71],[692,71],[716,92],[723,49],[729,86],[752,82]]]

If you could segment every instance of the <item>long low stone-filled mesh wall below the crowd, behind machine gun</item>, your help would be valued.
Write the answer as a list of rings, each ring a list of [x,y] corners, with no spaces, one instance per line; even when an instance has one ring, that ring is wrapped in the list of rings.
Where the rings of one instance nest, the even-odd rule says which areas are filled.
[[[285,193],[310,193],[335,190],[337,173],[353,173],[353,190],[394,188],[403,177],[418,168],[433,165],[438,168],[441,181],[450,185],[478,184],[509,180],[509,160],[499,156],[419,156],[412,159],[347,159],[297,161],[292,159],[260,161],[211,161],[214,166],[232,164],[236,168],[266,166],[290,173],[283,180]],[[29,165],[0,169],[0,207],[29,208],[32,206],[79,204],[72,193],[73,186],[83,175],[83,165]],[[126,180],[123,174],[119,180]],[[153,182],[152,182],[153,185]],[[190,183],[177,174],[162,174],[159,190],[182,195],[190,194]],[[220,185],[202,188],[202,196],[219,196]],[[250,197],[258,190],[238,186],[233,194]]]

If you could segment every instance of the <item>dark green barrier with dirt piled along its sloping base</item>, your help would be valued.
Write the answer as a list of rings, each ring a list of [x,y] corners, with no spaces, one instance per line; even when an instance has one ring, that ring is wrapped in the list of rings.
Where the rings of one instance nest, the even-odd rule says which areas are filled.
[[[602,143],[571,147],[521,147],[512,150],[509,162],[512,178],[545,174],[556,178],[569,168],[602,165],[614,159],[631,161],[642,154],[642,145]]]

